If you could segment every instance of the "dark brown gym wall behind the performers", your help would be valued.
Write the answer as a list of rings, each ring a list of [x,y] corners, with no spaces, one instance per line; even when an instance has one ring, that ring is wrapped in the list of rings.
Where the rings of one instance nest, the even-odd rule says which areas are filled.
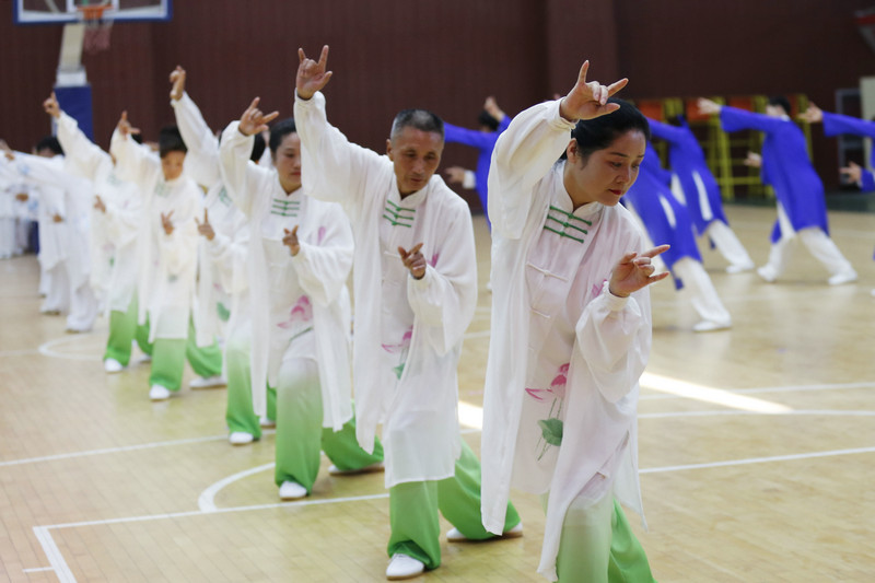
[[[629,77],[630,97],[806,93],[829,109],[837,88],[875,73],[853,11],[871,0],[176,0],[170,23],[118,24],[112,48],[85,56],[94,128],[108,144],[127,108],[147,136],[173,120],[167,74],[220,129],[253,96],[291,114],[296,49],[331,46],[326,95],[331,121],[382,150],[402,107],[432,108],[474,125],[494,94],[511,114],[573,84],[583,58],[591,78]],[[0,137],[26,149],[49,125],[39,103],[55,78],[59,26],[12,25],[0,0]],[[835,184],[835,141],[815,131],[815,156]],[[444,165],[476,155],[448,145]],[[831,183],[830,183],[831,180]]]

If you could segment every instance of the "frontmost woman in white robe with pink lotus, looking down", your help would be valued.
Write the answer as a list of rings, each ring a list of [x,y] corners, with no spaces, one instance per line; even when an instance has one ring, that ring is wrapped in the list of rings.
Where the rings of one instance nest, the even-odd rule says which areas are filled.
[[[638,378],[651,345],[648,285],[667,276],[651,259],[667,246],[645,250],[619,205],[646,120],[607,103],[626,80],[586,83],[587,68],[568,96],[516,116],[493,152],[482,517],[501,532],[511,486],[541,494],[547,579],[651,581],[615,497],[640,511]]]

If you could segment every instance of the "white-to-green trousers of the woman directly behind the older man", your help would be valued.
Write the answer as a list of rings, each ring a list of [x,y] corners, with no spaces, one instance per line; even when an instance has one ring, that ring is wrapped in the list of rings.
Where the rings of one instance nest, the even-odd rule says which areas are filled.
[[[295,481],[313,490],[322,462],[319,452],[339,469],[360,469],[383,460],[377,441],[369,454],[355,440],[355,420],[335,432],[323,428],[318,366],[311,359],[288,359],[277,378],[277,486]]]

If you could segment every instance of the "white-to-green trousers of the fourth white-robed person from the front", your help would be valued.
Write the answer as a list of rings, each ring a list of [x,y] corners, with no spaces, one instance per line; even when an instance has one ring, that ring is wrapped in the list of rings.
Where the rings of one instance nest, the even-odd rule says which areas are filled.
[[[235,333],[225,342],[225,373],[228,374],[228,408],[225,421],[231,433],[248,433],[261,438],[261,424],[253,408],[252,374],[249,370],[249,333]],[[268,387],[267,415],[277,418],[277,392]]]

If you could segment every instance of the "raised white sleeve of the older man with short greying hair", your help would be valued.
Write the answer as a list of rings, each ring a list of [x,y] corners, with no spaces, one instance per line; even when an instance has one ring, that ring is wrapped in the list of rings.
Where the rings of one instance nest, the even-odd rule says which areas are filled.
[[[369,173],[385,164],[382,156],[350,143],[328,124],[322,92],[310,100],[302,100],[295,93],[294,120],[301,138],[301,176],[305,191],[315,198],[345,205],[363,196]]]

